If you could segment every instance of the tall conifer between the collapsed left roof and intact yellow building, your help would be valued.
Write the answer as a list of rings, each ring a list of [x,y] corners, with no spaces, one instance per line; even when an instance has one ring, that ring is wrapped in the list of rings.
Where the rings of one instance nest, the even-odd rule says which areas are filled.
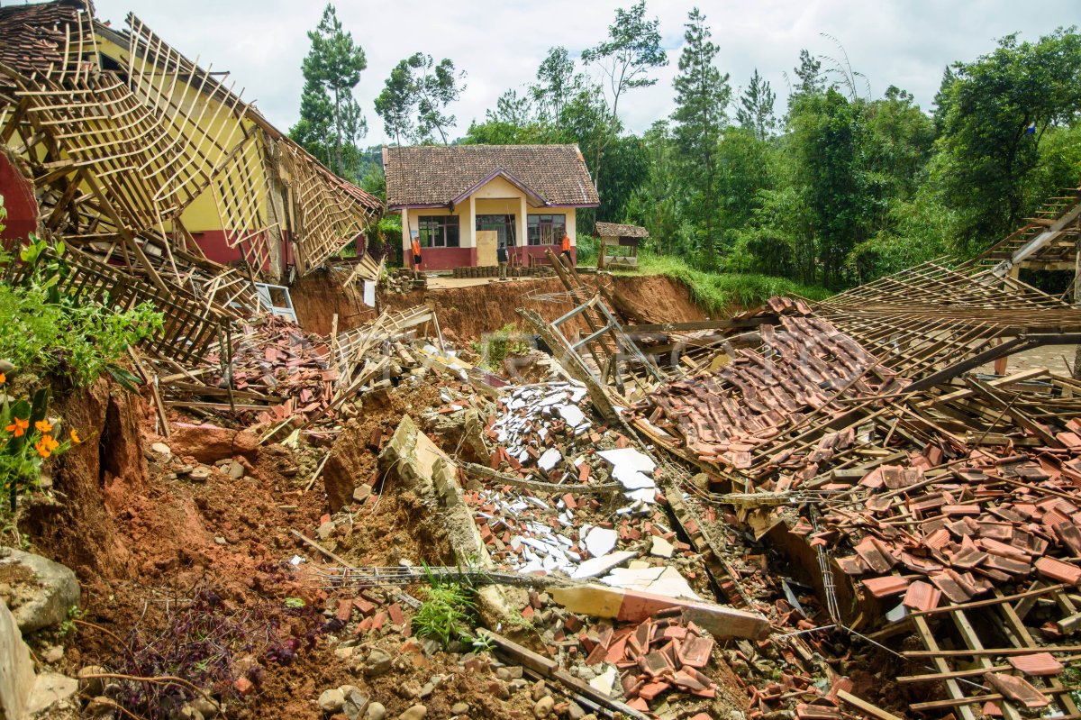
[[[364,51],[345,31],[333,4],[323,9],[311,49],[304,58],[301,121],[291,134],[338,175],[346,172],[346,156],[356,156],[356,143],[368,132],[360,105],[352,95],[360,74],[368,67]],[[333,138],[333,143],[331,139]],[[331,151],[330,148],[333,148]]]

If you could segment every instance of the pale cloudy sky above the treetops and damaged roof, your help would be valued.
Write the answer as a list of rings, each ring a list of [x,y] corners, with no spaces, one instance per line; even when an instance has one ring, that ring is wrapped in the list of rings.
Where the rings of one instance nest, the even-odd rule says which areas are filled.
[[[14,4],[0,0],[0,4]],[[99,19],[122,27],[134,12],[169,43],[203,67],[229,70],[236,90],[281,130],[296,122],[308,52],[307,30],[319,24],[323,3],[296,0],[95,0]],[[338,0],[338,16],[363,48],[368,69],[355,94],[368,119],[364,145],[387,141],[373,101],[390,69],[415,52],[438,62],[449,57],[466,71],[466,90],[450,111],[457,117],[452,136],[495,107],[510,88],[531,82],[549,48],[565,46],[573,57],[608,35],[618,6],[631,0]],[[641,133],[673,109],[672,78],[683,44],[690,2],[652,0],[648,16],[660,19],[667,67],[653,72],[651,88],[630,91],[619,114],[628,130]],[[757,68],[777,93],[784,111],[788,84],[801,48],[840,58],[838,42],[852,68],[867,77],[871,97],[897,85],[930,110],[943,69],[972,61],[995,48],[998,38],[1020,32],[1037,40],[1058,26],[1081,25],[1078,0],[703,0],[717,65],[730,74],[733,97]],[[824,35],[825,34],[825,35]],[[836,41],[833,39],[836,38]],[[824,66],[829,61],[824,62]],[[860,89],[862,94],[867,88]],[[734,111],[732,111],[734,116]]]

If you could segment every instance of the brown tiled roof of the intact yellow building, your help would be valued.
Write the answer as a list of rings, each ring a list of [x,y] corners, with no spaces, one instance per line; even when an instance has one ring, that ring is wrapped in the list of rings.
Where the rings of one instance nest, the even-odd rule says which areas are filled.
[[[576,145],[415,145],[384,148],[387,204],[450,204],[501,171],[550,205],[600,198]]]

